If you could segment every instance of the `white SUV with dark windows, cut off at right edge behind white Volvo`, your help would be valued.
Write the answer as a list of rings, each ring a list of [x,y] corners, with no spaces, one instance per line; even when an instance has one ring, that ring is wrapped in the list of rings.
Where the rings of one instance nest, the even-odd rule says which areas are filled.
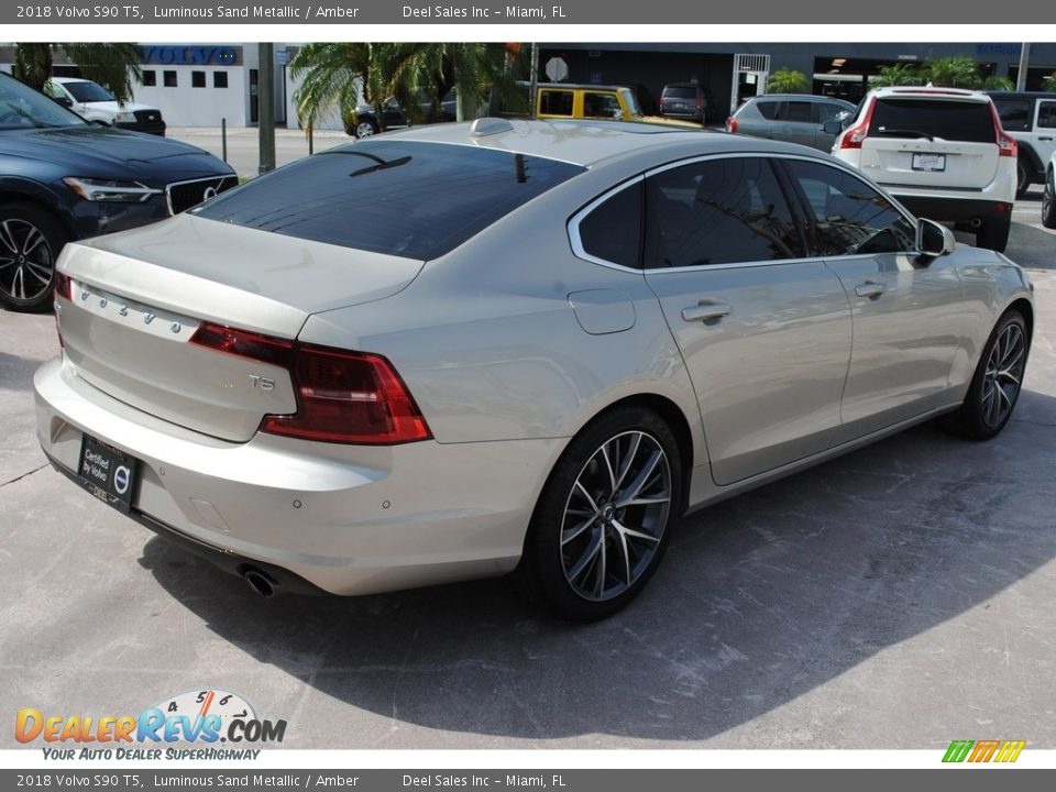
[[[1015,197],[1032,184],[1045,183],[1045,166],[1056,153],[1056,94],[994,91],[990,94],[1004,131],[1020,144]]]

